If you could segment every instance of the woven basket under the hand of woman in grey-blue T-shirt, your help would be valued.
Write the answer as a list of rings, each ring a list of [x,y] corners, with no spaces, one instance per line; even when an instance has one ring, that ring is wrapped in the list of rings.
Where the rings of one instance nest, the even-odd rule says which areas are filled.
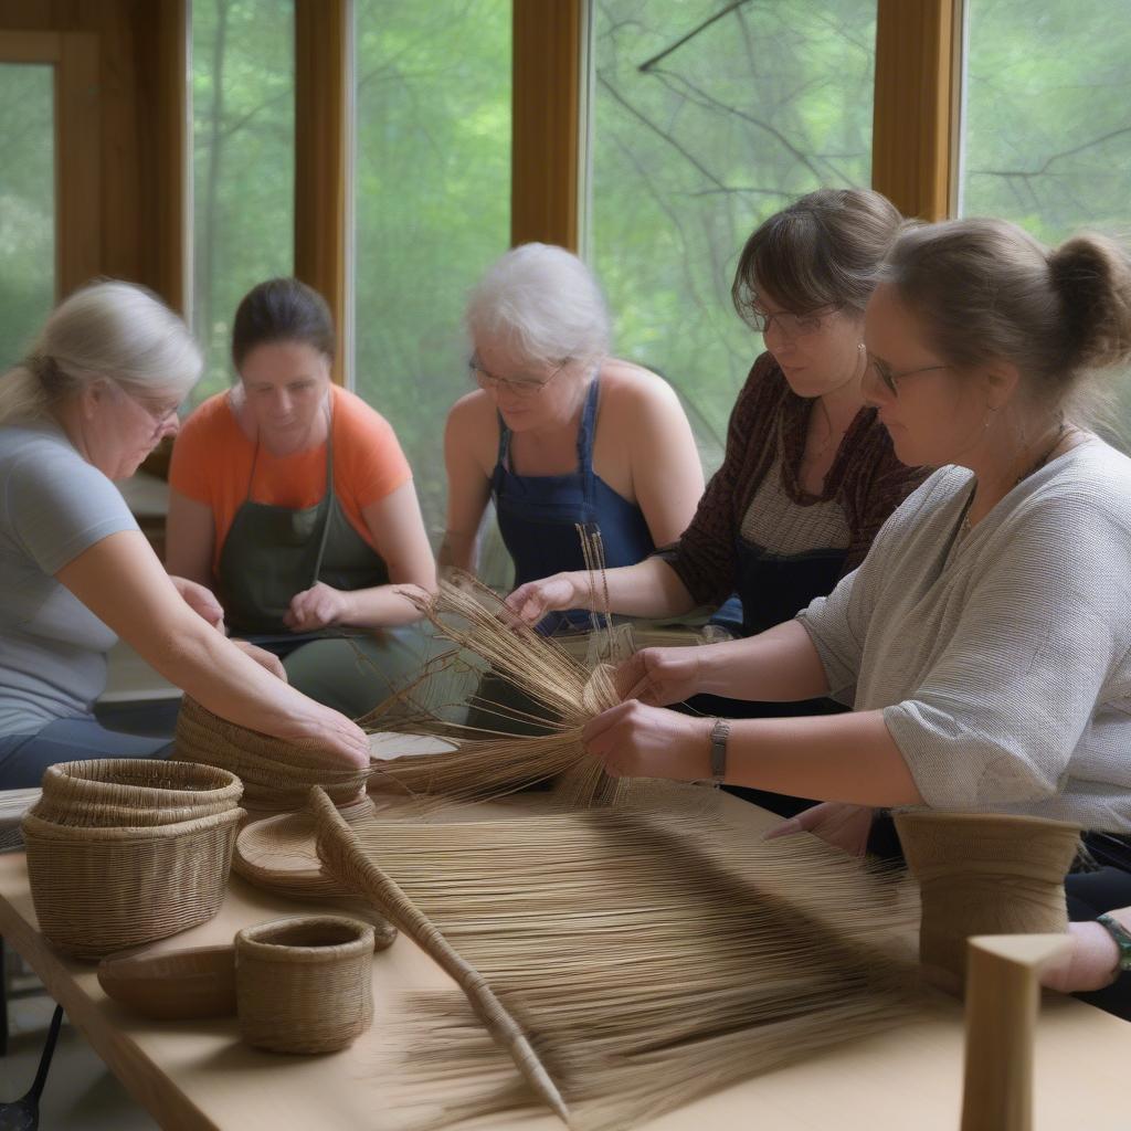
[[[368,769],[331,765],[334,754],[314,743],[284,742],[222,719],[188,696],[176,718],[176,754],[184,761],[217,766],[243,783],[251,809],[301,809],[320,785],[336,804],[365,791]]]

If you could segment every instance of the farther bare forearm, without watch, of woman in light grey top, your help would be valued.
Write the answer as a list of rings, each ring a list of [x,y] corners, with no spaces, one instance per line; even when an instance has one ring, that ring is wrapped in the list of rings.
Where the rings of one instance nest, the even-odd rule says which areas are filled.
[[[821,657],[800,621],[785,621],[745,640],[698,649],[698,690],[727,699],[795,702],[828,694]]]

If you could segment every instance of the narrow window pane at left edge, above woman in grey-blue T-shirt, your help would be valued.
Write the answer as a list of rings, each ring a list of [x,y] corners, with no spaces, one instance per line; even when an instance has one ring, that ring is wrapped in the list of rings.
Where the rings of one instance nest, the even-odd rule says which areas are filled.
[[[0,64],[0,372],[55,301],[54,67]]]

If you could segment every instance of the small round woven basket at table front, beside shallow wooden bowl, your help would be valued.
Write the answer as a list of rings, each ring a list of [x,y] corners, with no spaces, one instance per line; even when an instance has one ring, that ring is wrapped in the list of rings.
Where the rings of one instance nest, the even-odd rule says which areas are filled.
[[[303,915],[235,936],[240,1035],[277,1053],[345,1048],[373,1020],[373,927]]]

